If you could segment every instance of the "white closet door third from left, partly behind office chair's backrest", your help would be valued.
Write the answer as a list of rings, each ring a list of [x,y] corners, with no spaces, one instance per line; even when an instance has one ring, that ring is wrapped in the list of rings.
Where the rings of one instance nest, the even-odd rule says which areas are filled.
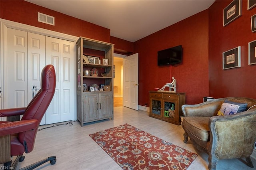
[[[46,124],[58,123],[61,121],[61,40],[46,36],[46,65],[54,65],[56,71],[55,94],[48,107]]]

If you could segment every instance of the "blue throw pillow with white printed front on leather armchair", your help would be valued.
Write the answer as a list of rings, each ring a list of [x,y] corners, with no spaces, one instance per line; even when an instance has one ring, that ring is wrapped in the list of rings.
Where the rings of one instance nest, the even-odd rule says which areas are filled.
[[[236,113],[240,113],[246,110],[247,103],[236,103],[232,101],[225,100],[222,103],[220,110],[218,111],[217,115],[234,115]]]

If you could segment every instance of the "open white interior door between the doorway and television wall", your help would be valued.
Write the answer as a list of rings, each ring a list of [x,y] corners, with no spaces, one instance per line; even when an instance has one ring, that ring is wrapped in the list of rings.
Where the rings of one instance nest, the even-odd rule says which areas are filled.
[[[138,57],[133,54],[124,58],[123,105],[138,110]]]

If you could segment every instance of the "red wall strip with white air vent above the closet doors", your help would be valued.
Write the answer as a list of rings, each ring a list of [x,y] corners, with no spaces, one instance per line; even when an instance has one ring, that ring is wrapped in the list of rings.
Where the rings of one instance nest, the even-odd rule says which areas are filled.
[[[38,12],[55,17],[55,26],[38,22]],[[1,0],[2,19],[61,32],[72,36],[82,36],[104,42],[110,42],[110,30],[90,22],[26,2],[23,0]]]

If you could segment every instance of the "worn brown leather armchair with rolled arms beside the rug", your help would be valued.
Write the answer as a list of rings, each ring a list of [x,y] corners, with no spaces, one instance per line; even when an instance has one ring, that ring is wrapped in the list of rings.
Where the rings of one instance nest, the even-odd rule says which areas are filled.
[[[246,111],[218,116],[224,101],[247,103]],[[208,155],[209,170],[216,170],[220,159],[245,158],[253,168],[250,155],[256,141],[256,99],[228,97],[196,105],[183,105],[184,143],[190,137],[199,150]]]

